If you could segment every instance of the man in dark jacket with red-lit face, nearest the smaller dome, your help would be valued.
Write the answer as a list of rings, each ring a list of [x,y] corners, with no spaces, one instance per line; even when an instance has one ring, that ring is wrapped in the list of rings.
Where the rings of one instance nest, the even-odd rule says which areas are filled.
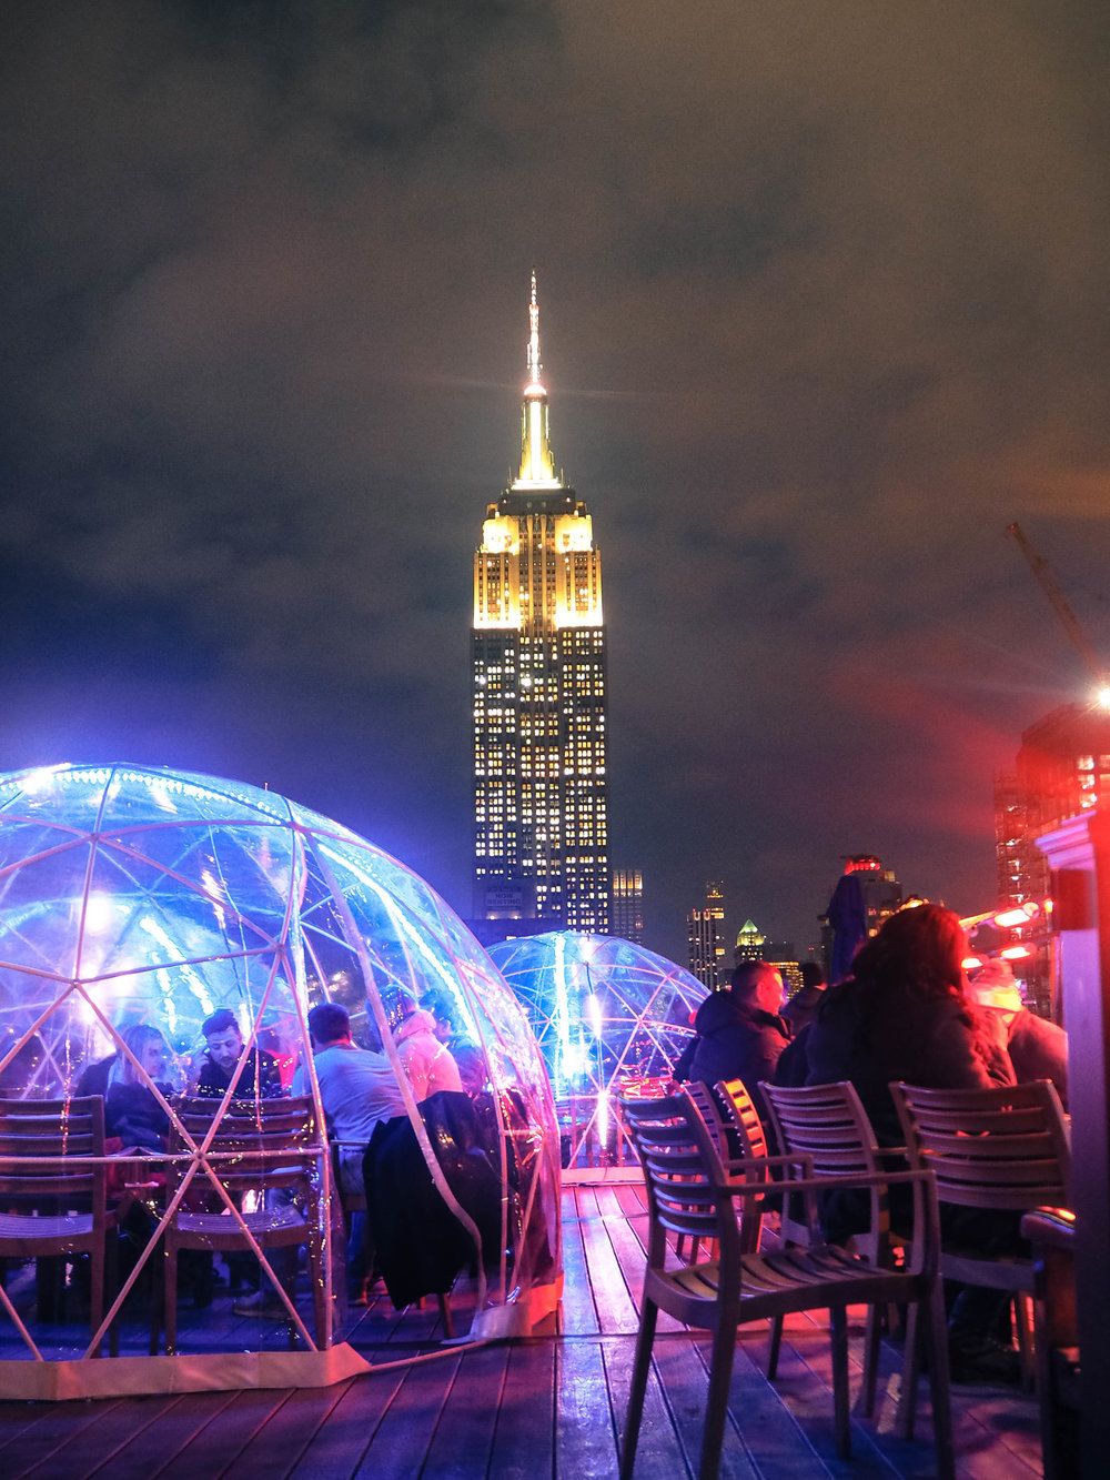
[[[731,990],[713,992],[697,1009],[697,1037],[682,1077],[710,1088],[718,1079],[741,1079],[762,1113],[759,1082],[774,1079],[778,1055],[790,1040],[781,1006],[778,971],[765,961],[740,962]]]

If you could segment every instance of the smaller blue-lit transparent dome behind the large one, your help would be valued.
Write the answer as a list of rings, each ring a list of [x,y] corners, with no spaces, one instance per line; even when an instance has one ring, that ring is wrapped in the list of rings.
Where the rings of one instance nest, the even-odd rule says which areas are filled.
[[[666,956],[613,935],[551,931],[490,947],[551,1074],[562,1165],[620,1162],[614,1095],[656,1094],[694,1036],[704,986]]]

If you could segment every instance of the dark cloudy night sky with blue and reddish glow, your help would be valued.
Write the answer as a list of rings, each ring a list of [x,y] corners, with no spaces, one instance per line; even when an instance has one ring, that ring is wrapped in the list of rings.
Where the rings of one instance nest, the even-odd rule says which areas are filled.
[[[13,3],[0,768],[266,781],[469,910],[471,556],[595,518],[616,863],[804,944],[845,852],[992,901],[1110,657],[1110,58],[1085,0]]]

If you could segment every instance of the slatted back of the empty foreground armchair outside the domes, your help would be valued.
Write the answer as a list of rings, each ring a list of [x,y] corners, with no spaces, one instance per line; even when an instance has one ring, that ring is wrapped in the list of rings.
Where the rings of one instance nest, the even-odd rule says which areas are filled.
[[[648,1267],[663,1270],[667,1233],[691,1248],[721,1240],[721,1258],[739,1254],[736,1212],[713,1138],[688,1094],[622,1100],[622,1113],[644,1168],[648,1194]]]

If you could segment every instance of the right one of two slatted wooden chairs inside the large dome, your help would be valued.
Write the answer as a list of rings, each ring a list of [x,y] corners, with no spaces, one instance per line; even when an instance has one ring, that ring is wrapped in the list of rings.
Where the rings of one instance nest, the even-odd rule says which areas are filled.
[[[200,1144],[209,1135],[218,1101],[184,1098],[175,1104],[181,1126]],[[244,1233],[212,1185],[198,1171],[163,1234],[166,1351],[178,1344],[178,1255],[182,1249],[231,1254],[237,1249],[269,1255],[275,1249],[308,1248],[315,1313],[315,1339],[327,1344],[330,1311],[324,1301],[323,1228],[320,1214],[318,1157],[321,1138],[309,1097],[295,1100],[231,1101],[216,1126],[209,1151],[219,1183],[250,1230]],[[170,1151],[189,1147],[176,1128]],[[277,1154],[275,1154],[277,1153]],[[170,1162],[167,1205],[188,1163]],[[203,1205],[203,1208],[198,1208]],[[249,1206],[249,1205],[253,1205]],[[265,1279],[262,1288],[265,1289]],[[292,1304],[293,1292],[286,1292]],[[292,1332],[290,1332],[292,1339]],[[157,1331],[151,1335],[157,1350]]]

